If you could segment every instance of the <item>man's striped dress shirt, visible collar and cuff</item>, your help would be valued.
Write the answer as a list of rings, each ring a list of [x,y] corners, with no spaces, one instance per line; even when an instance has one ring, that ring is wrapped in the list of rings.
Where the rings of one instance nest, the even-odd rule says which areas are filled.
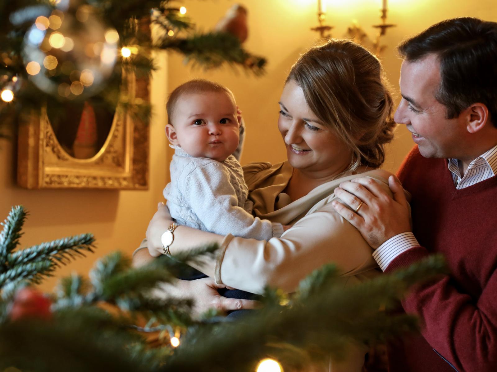
[[[463,177],[459,171],[458,159],[449,159],[448,163],[456,189],[460,190],[475,185],[497,174],[497,145],[473,160]],[[385,270],[395,257],[417,246],[419,243],[412,232],[402,233],[390,238],[378,247],[373,252],[373,258],[378,262],[378,266]]]

